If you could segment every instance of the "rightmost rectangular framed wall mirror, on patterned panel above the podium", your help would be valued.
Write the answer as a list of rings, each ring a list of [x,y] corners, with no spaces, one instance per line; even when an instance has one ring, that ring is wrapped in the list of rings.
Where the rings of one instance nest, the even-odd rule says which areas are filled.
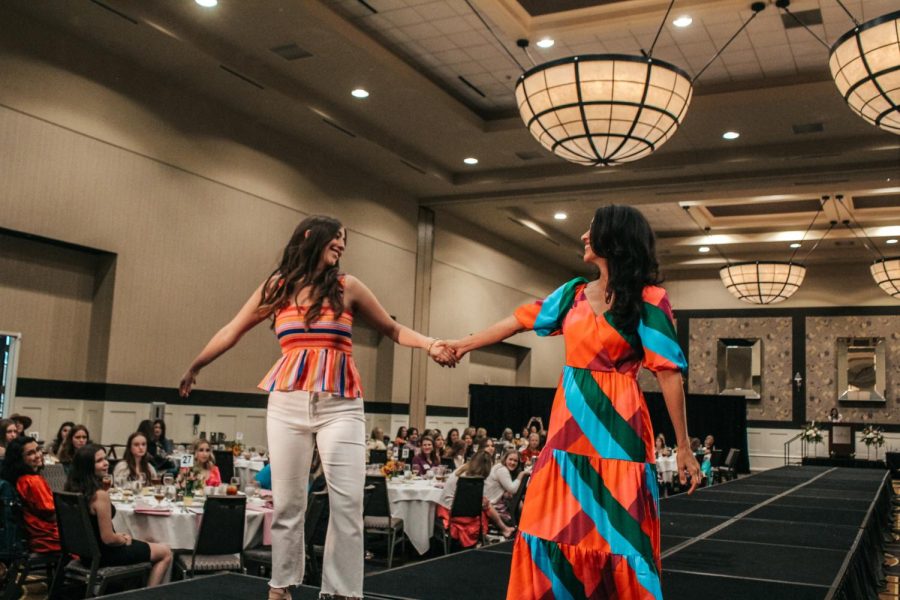
[[[884,338],[838,338],[838,400],[884,402],[885,354]]]

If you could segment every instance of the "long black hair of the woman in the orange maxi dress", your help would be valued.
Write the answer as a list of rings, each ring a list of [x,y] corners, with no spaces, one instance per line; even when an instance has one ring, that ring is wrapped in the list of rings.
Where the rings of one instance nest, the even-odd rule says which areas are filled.
[[[606,301],[612,299],[614,325],[633,334],[641,319],[644,287],[662,283],[653,229],[636,208],[601,206],[591,223],[591,249],[608,261]]]

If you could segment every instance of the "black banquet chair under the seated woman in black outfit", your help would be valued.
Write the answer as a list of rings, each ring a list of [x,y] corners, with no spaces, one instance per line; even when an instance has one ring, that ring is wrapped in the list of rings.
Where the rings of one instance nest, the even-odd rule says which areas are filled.
[[[86,585],[85,598],[102,596],[113,581],[140,579],[141,587],[147,586],[147,578],[153,566],[149,562],[121,567],[100,567],[100,543],[94,535],[87,499],[82,494],[54,492],[56,524],[59,527],[59,545],[63,555],[74,554],[77,560],[57,563],[56,575],[49,596],[57,597],[66,576]]]

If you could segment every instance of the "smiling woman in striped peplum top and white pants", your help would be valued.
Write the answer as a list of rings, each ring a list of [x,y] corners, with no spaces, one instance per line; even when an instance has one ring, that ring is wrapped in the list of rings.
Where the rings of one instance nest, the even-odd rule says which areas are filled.
[[[365,416],[353,362],[353,319],[361,316],[395,342],[422,348],[441,364],[456,360],[445,342],[400,325],[359,279],[341,273],[347,231],[313,216],[294,230],[281,263],[238,314],[209,341],[181,380],[190,393],[200,369],[266,319],[282,357],[259,387],[269,392],[266,427],[271,450],[272,579],[269,598],[290,598],[303,581],[307,480],[313,446],[328,483],[330,516],[322,594],[362,598]]]

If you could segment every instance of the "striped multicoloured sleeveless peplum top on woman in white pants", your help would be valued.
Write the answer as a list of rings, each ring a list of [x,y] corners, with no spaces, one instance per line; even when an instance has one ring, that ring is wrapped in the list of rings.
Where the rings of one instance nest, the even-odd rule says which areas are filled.
[[[259,388],[267,392],[328,392],[361,398],[362,387],[353,362],[353,313],[335,315],[328,306],[306,325],[308,307],[291,305],[275,313],[275,335],[281,358]]]

